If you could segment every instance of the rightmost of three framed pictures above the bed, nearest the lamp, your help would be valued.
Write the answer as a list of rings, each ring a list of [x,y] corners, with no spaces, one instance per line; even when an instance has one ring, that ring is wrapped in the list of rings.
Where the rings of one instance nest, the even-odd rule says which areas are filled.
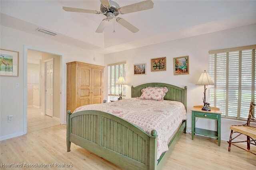
[[[189,74],[189,56],[173,58],[174,75]]]

